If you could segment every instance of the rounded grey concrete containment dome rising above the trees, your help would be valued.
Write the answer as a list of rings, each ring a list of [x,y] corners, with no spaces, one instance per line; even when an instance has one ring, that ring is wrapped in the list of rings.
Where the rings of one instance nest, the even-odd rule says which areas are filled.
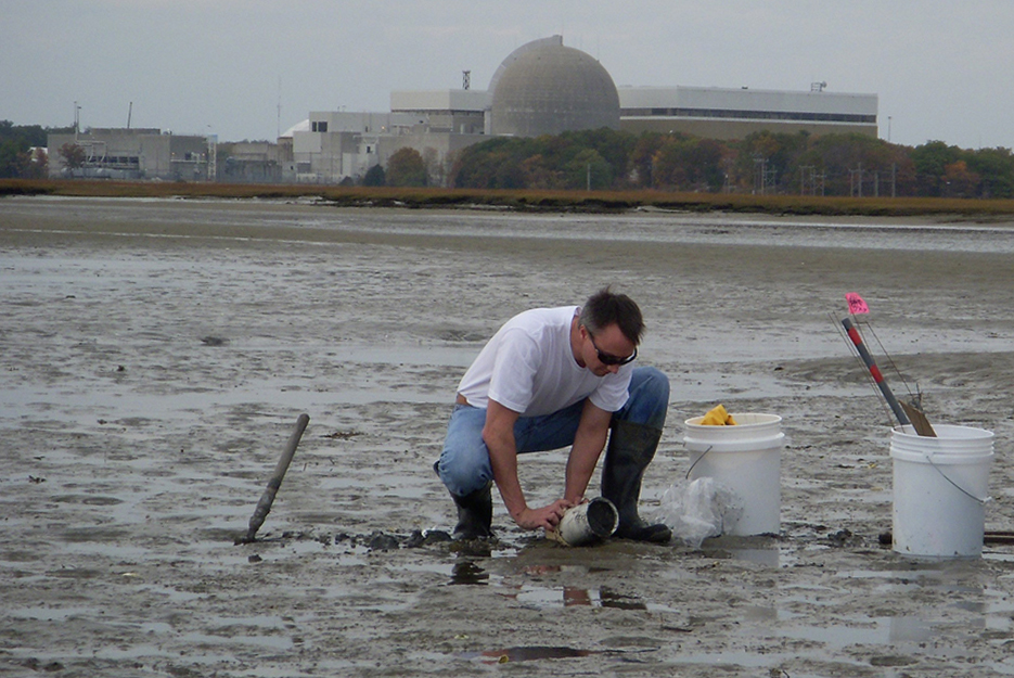
[[[490,132],[517,137],[619,128],[619,94],[591,55],[553,36],[522,46],[493,75]]]

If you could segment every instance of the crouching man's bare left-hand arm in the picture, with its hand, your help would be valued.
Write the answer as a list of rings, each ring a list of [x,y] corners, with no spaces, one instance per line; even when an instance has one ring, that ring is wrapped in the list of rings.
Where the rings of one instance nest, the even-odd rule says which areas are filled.
[[[570,502],[557,499],[541,509],[528,508],[521,482],[517,479],[517,446],[514,442],[514,423],[517,417],[514,410],[503,407],[496,400],[489,400],[486,409],[486,425],[483,427],[483,442],[489,450],[493,479],[497,482],[503,503],[518,527],[552,529],[560,522],[563,512],[570,507]],[[588,483],[587,478],[585,483]]]

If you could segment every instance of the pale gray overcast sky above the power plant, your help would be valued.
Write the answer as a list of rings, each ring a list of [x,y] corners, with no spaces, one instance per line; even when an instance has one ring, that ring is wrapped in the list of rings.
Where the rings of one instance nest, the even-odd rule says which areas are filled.
[[[895,143],[1014,148],[1014,0],[0,0],[0,119],[273,140],[554,34],[617,86],[825,81]]]

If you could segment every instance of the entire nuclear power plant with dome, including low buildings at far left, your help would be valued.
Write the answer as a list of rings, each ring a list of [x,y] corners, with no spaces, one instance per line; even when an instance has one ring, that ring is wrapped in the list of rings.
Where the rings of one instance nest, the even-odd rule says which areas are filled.
[[[511,52],[486,90],[472,89],[470,72],[462,76],[461,89],[393,91],[387,112],[310,112],[277,145],[234,143],[222,154],[204,137],[159,143],[158,130],[144,130],[146,140],[138,138],[141,130],[90,130],[52,135],[50,149],[72,141],[87,149],[78,176],[341,183],[385,166],[403,148],[416,150],[431,167],[446,168],[454,153],[490,137],[603,127],[722,140],[760,130],[877,136],[876,94],[830,92],[824,82],[804,91],[617,88],[605,66],[565,46],[562,36]],[[50,176],[66,176],[63,158],[50,156]]]

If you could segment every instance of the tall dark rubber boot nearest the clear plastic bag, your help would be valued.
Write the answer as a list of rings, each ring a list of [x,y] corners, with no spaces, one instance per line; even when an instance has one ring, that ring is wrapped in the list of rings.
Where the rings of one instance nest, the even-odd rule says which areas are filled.
[[[662,431],[628,421],[613,422],[609,445],[602,469],[602,496],[619,512],[616,537],[664,543],[672,538],[665,525],[649,525],[638,515],[641,477],[655,458]]]

